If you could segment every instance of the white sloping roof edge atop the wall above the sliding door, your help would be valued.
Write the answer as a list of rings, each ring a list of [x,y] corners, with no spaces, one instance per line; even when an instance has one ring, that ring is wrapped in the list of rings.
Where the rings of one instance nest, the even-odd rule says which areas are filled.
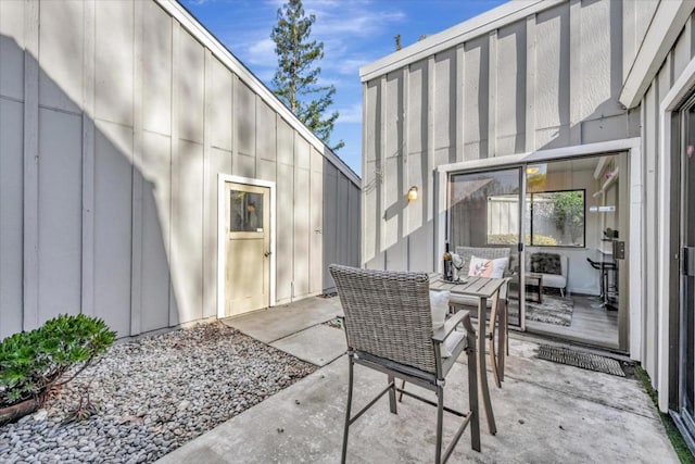
[[[569,0],[513,0],[488,12],[473,16],[441,33],[429,36],[409,47],[391,53],[359,68],[362,81],[387,74],[439,51],[483,36],[506,24],[514,23]]]

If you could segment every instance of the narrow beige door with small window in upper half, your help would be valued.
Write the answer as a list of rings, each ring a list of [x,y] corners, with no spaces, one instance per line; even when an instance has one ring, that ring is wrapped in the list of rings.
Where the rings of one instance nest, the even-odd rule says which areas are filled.
[[[225,183],[225,316],[270,301],[270,189]]]

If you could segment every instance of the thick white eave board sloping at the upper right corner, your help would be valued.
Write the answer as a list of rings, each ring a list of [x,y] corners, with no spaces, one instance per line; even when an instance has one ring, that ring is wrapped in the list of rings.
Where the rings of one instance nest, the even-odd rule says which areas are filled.
[[[692,0],[659,2],[620,92],[620,103],[628,109],[636,106],[642,101],[693,9],[695,2]]]

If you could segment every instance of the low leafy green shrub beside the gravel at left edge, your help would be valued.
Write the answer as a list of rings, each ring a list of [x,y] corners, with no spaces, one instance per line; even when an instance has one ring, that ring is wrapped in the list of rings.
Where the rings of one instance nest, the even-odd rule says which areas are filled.
[[[0,411],[28,400],[40,407],[51,389],[74,379],[115,339],[102,319],[84,314],[63,314],[5,338],[0,342]]]

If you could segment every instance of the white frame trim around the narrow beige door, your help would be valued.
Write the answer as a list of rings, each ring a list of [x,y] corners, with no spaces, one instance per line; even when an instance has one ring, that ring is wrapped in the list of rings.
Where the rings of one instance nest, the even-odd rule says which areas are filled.
[[[256,187],[267,187],[270,189],[270,301],[269,306],[277,304],[276,290],[276,187],[270,180],[251,179],[248,177],[232,176],[230,174],[217,175],[217,317],[225,317],[225,234],[220,233],[220,228],[225,224],[225,184],[245,184]]]

